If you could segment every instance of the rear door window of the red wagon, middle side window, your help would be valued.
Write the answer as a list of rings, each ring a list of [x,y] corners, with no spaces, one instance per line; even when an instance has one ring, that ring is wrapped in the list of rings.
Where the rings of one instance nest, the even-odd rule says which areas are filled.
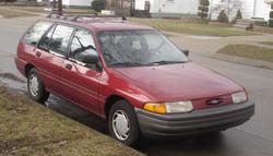
[[[57,25],[50,39],[49,50],[66,56],[72,33],[73,27]]]

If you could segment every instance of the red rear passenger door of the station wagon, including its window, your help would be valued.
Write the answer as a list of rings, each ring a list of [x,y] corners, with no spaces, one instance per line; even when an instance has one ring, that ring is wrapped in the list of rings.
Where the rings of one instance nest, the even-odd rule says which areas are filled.
[[[63,61],[74,28],[57,24],[41,38],[36,49],[36,65],[45,86],[50,92],[67,97]]]

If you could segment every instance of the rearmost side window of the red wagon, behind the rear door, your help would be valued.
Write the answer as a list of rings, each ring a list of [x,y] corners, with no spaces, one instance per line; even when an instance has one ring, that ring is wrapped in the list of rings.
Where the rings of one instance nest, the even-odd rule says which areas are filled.
[[[36,23],[24,36],[24,43],[36,46],[41,36],[52,25],[50,22],[38,22]]]

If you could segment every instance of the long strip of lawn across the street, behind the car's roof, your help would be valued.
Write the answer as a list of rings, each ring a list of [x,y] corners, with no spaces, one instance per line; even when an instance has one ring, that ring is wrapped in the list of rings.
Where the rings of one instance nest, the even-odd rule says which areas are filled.
[[[162,31],[209,36],[249,36],[258,33],[235,29],[227,25],[202,24],[194,22],[183,22],[180,20],[166,19],[136,19],[130,17],[129,21],[156,27]]]

